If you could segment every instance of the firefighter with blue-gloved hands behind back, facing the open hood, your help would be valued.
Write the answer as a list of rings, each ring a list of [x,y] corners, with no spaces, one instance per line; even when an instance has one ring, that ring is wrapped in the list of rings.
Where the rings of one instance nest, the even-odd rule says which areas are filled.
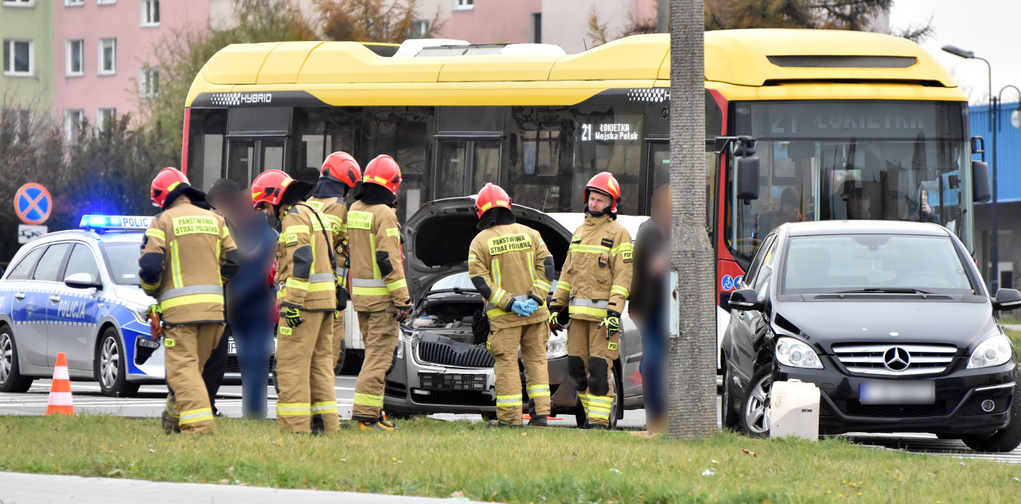
[[[475,201],[479,234],[468,252],[468,274],[486,300],[489,337],[486,349],[496,360],[496,416],[489,426],[521,426],[522,390],[518,368],[521,349],[528,398],[535,402],[530,425],[546,426],[549,416],[549,369],[545,306],[553,256],[539,233],[515,221],[510,197],[492,184]]]

